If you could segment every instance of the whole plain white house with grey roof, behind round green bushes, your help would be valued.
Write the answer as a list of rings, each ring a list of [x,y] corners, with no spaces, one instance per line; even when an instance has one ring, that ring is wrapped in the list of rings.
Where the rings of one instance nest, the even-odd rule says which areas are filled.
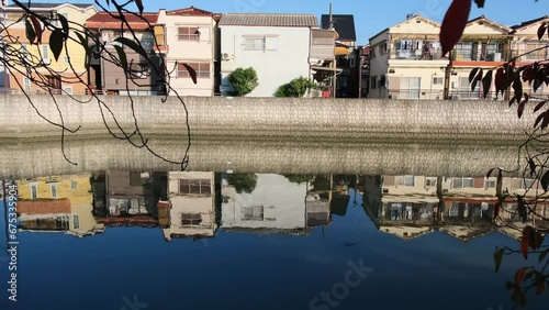
[[[257,71],[259,86],[249,97],[272,97],[281,85],[311,76],[311,30],[318,29],[315,15],[229,13],[219,25],[223,93],[232,90],[227,76],[238,67]]]

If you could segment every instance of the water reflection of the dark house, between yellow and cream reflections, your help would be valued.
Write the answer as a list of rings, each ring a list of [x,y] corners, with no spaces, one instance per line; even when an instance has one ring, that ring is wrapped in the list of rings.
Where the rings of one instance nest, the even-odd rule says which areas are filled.
[[[110,170],[94,176],[93,213],[108,226],[157,226],[157,202],[166,200],[164,173]]]

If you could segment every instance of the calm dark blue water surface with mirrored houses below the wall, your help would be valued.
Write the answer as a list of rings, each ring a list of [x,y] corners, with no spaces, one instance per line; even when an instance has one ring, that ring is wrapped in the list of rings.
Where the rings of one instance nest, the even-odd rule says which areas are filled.
[[[238,156],[224,159],[258,165]],[[288,174],[299,160],[257,173],[111,165],[15,178],[18,301],[4,288],[2,309],[512,309],[505,283],[537,257],[506,256],[494,272],[495,248],[519,244],[485,221],[490,179]],[[548,301],[528,296],[527,309]]]

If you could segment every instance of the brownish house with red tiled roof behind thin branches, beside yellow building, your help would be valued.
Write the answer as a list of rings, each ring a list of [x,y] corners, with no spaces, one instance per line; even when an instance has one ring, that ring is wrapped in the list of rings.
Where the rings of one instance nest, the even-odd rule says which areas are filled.
[[[155,45],[153,27],[158,13],[144,12],[141,16],[124,14],[131,30],[119,18],[117,12],[98,12],[86,21],[86,27],[93,33],[91,40],[89,85],[93,91],[108,95],[154,96],[163,93],[160,82],[159,57],[153,53]],[[145,49],[149,58],[115,42],[117,37],[136,41]],[[104,49],[101,46],[104,45]],[[109,55],[117,55],[115,45],[123,46],[128,68],[110,59]],[[101,52],[100,52],[101,51]],[[100,54],[101,53],[101,54]]]

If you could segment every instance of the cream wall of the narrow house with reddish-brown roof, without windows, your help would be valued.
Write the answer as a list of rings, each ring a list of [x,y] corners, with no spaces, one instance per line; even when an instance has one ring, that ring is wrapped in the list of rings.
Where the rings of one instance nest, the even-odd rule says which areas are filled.
[[[206,63],[210,64],[209,74],[199,74],[194,84],[184,71],[175,69],[170,75],[170,86],[179,96],[209,97],[214,93],[214,59],[216,23],[211,16],[168,15],[160,10],[158,24],[165,24],[166,44],[169,51],[166,54],[167,67],[172,70],[176,63]],[[200,36],[197,40],[180,40],[179,27],[197,27]],[[170,92],[175,96],[176,93]]]

